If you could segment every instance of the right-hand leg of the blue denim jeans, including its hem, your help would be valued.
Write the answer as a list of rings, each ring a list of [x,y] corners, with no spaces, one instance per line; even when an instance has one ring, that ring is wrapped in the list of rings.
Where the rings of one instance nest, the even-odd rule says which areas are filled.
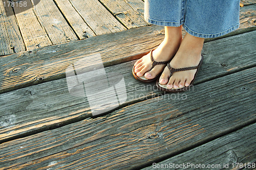
[[[214,38],[239,28],[240,0],[187,0],[183,28],[190,35]]]

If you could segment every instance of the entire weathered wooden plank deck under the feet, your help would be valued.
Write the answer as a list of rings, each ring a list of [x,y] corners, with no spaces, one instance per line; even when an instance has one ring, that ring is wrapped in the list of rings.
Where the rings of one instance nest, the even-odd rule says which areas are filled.
[[[255,169],[256,1],[241,6],[193,89],[164,93],[132,75],[164,37],[143,1],[0,3],[0,169]]]

